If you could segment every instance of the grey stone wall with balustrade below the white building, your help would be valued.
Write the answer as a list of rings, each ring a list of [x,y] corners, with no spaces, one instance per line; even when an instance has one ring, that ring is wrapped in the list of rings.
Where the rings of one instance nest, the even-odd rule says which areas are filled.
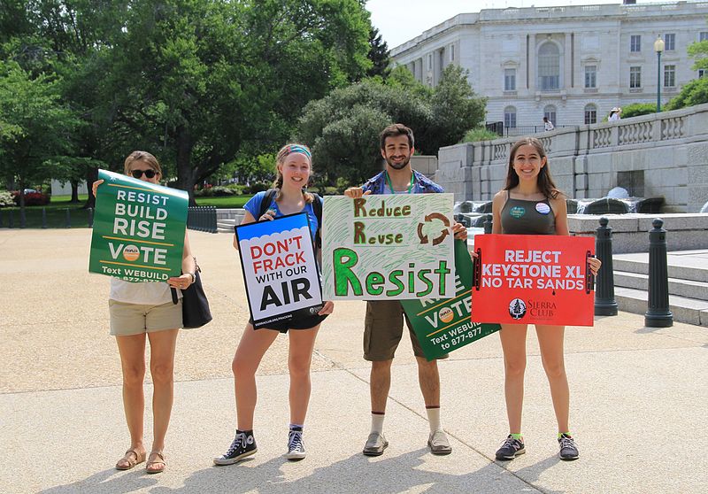
[[[620,186],[637,197],[664,197],[665,212],[699,212],[708,202],[708,104],[535,137],[570,197],[604,197]],[[435,181],[456,201],[490,200],[504,186],[516,139],[441,148]]]

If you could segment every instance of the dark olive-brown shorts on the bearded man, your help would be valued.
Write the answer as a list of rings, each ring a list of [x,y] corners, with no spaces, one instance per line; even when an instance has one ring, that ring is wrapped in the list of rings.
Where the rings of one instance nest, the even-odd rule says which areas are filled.
[[[364,322],[364,359],[370,361],[391,360],[404,334],[404,319],[411,335],[413,354],[425,359],[418,336],[415,336],[411,321],[397,300],[370,300],[366,302]],[[447,359],[447,355],[438,359]]]

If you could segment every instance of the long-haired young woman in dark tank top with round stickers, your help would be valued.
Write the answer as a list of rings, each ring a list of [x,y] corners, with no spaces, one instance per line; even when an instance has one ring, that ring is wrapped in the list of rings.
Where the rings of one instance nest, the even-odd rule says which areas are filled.
[[[492,233],[510,235],[570,235],[566,197],[550,177],[543,144],[533,137],[514,143],[509,156],[506,185],[492,202]],[[598,259],[589,259],[593,274]],[[543,369],[550,384],[550,396],[558,421],[561,459],[577,459],[578,448],[568,427],[570,407],[563,355],[564,326],[536,324]],[[504,351],[504,397],[509,419],[509,436],[496,452],[496,459],[514,459],[525,452],[521,434],[521,409],[526,370],[526,324],[502,324],[499,336]]]

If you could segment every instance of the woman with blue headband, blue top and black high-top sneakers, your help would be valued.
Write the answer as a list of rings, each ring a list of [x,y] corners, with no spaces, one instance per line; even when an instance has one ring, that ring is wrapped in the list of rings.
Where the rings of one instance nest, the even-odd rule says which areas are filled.
[[[244,205],[246,214],[242,225],[267,221],[296,212],[306,212],[310,219],[312,238],[319,231],[319,218],[313,205],[322,198],[306,191],[312,174],[312,154],[303,144],[288,144],[278,151],[277,176],[273,190],[259,192]],[[265,204],[268,202],[269,204]],[[234,247],[238,243],[234,237]],[[318,252],[319,258],[319,252]],[[287,459],[304,459],[303,426],[310,402],[310,366],[319,324],[332,313],[334,304],[327,301],[319,313],[304,319],[275,322],[266,328],[254,329],[252,321],[246,325],[236,349],[232,369],[235,379],[237,428],[236,436],[227,452],[214,458],[216,465],[232,465],[257,451],[253,436],[253,413],[256,408],[256,371],[261,359],[279,333],[288,333],[290,373],[290,426]],[[290,330],[290,331],[289,331]]]

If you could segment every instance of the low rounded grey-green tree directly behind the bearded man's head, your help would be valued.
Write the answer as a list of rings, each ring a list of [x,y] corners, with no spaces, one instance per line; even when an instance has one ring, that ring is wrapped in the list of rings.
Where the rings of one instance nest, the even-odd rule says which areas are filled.
[[[381,170],[383,127],[394,122],[411,127],[416,151],[436,154],[480,124],[485,103],[457,67],[446,70],[435,89],[396,68],[385,84],[365,80],[308,104],[295,138],[312,145],[315,171],[325,183],[334,185],[338,177],[356,183]]]

